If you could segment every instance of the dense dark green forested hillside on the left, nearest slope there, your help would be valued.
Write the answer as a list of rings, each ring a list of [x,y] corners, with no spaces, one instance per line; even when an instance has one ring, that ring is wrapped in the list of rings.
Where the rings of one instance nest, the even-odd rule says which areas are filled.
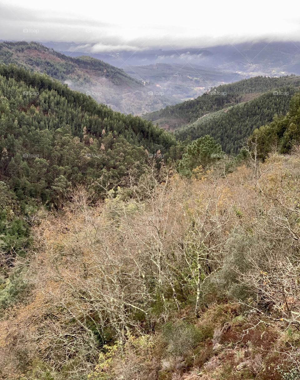
[[[0,96],[0,180],[19,199],[57,203],[70,184],[91,183],[102,174],[119,184],[148,152],[160,150],[167,160],[175,144],[152,122],[14,65],[0,66]]]

